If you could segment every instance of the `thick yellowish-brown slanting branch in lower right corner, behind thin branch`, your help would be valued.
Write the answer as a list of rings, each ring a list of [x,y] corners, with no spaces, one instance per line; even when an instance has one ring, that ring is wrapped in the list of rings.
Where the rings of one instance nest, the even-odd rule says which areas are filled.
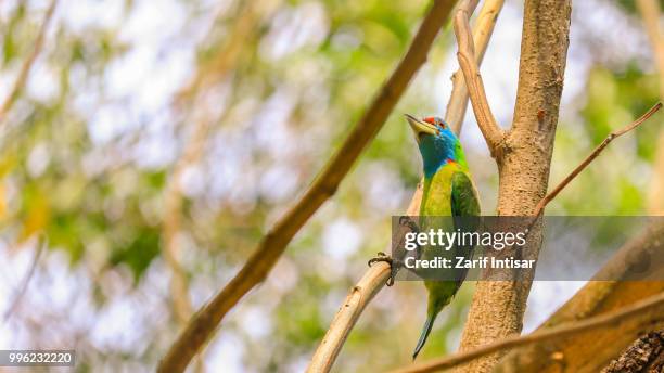
[[[596,314],[611,312],[626,305],[664,292],[661,268],[642,272],[643,258],[660,258],[664,249],[664,220],[654,218],[643,232],[629,240],[586,285],[558,309],[538,330],[575,322]],[[651,266],[661,263],[654,259]],[[657,267],[659,268],[659,267]],[[651,327],[654,325],[651,325]],[[513,350],[494,368],[501,372],[557,372],[561,364],[569,371],[584,368],[597,372],[643,332],[639,324],[625,323],[617,332],[597,331],[559,343],[533,345]],[[562,356],[553,360],[552,353]],[[593,357],[589,361],[588,357]]]

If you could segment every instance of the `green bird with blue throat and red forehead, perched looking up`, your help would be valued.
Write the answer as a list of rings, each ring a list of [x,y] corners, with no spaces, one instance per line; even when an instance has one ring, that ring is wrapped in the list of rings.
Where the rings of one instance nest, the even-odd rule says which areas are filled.
[[[459,223],[454,218],[480,216],[477,192],[471,180],[461,143],[440,118],[426,117],[419,120],[411,115],[406,115],[406,119],[414,132],[423,163],[424,185],[420,206],[420,231],[427,232],[430,229],[439,228],[454,231],[455,228],[459,228]],[[452,219],[427,218],[442,216],[452,217]],[[440,227],[445,224],[456,226]],[[423,259],[440,256],[471,258],[472,249],[472,247],[454,247],[449,252],[444,252],[439,246],[424,246],[420,248],[419,256]],[[429,292],[426,322],[412,353],[413,360],[424,347],[436,317],[457,294],[468,272],[455,269],[438,270],[456,272],[446,273],[445,280],[435,280],[431,276],[424,279],[424,285]]]

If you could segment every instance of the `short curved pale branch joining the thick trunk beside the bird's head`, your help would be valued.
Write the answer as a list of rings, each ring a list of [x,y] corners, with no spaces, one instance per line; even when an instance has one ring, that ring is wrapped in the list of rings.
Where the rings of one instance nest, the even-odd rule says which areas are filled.
[[[480,68],[477,67],[473,35],[469,24],[470,15],[473,14],[473,10],[476,5],[476,0],[464,0],[455,15],[455,35],[457,36],[457,43],[459,44],[457,57],[459,60],[459,66],[463,72],[465,85],[468,86],[473,112],[477,119],[477,126],[486,140],[491,156],[497,158],[505,134],[491,113],[491,108],[486,99],[486,92],[484,91]]]

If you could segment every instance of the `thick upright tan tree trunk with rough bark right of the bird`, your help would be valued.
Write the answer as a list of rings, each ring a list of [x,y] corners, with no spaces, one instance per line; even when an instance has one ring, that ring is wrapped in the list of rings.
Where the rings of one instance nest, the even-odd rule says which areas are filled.
[[[570,0],[527,0],[514,120],[507,133],[499,170],[498,215],[528,216],[546,195],[553,138],[567,55]],[[541,236],[534,235],[526,253],[537,258]],[[461,338],[460,350],[518,334],[531,288],[525,281],[480,281]],[[501,353],[463,366],[489,372]]]

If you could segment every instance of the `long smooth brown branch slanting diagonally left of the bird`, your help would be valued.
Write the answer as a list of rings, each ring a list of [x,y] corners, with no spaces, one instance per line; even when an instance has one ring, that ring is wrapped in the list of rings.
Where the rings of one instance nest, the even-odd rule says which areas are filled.
[[[408,52],[378,97],[359,119],[341,149],[327,164],[305,194],[263,237],[240,272],[205,305],[170,346],[157,370],[182,372],[192,357],[212,336],[221,319],[270,272],[286,245],[318,208],[336,191],[350,167],[375,137],[406,87],[426,61],[438,30],[448,18],[454,1],[434,1]]]

